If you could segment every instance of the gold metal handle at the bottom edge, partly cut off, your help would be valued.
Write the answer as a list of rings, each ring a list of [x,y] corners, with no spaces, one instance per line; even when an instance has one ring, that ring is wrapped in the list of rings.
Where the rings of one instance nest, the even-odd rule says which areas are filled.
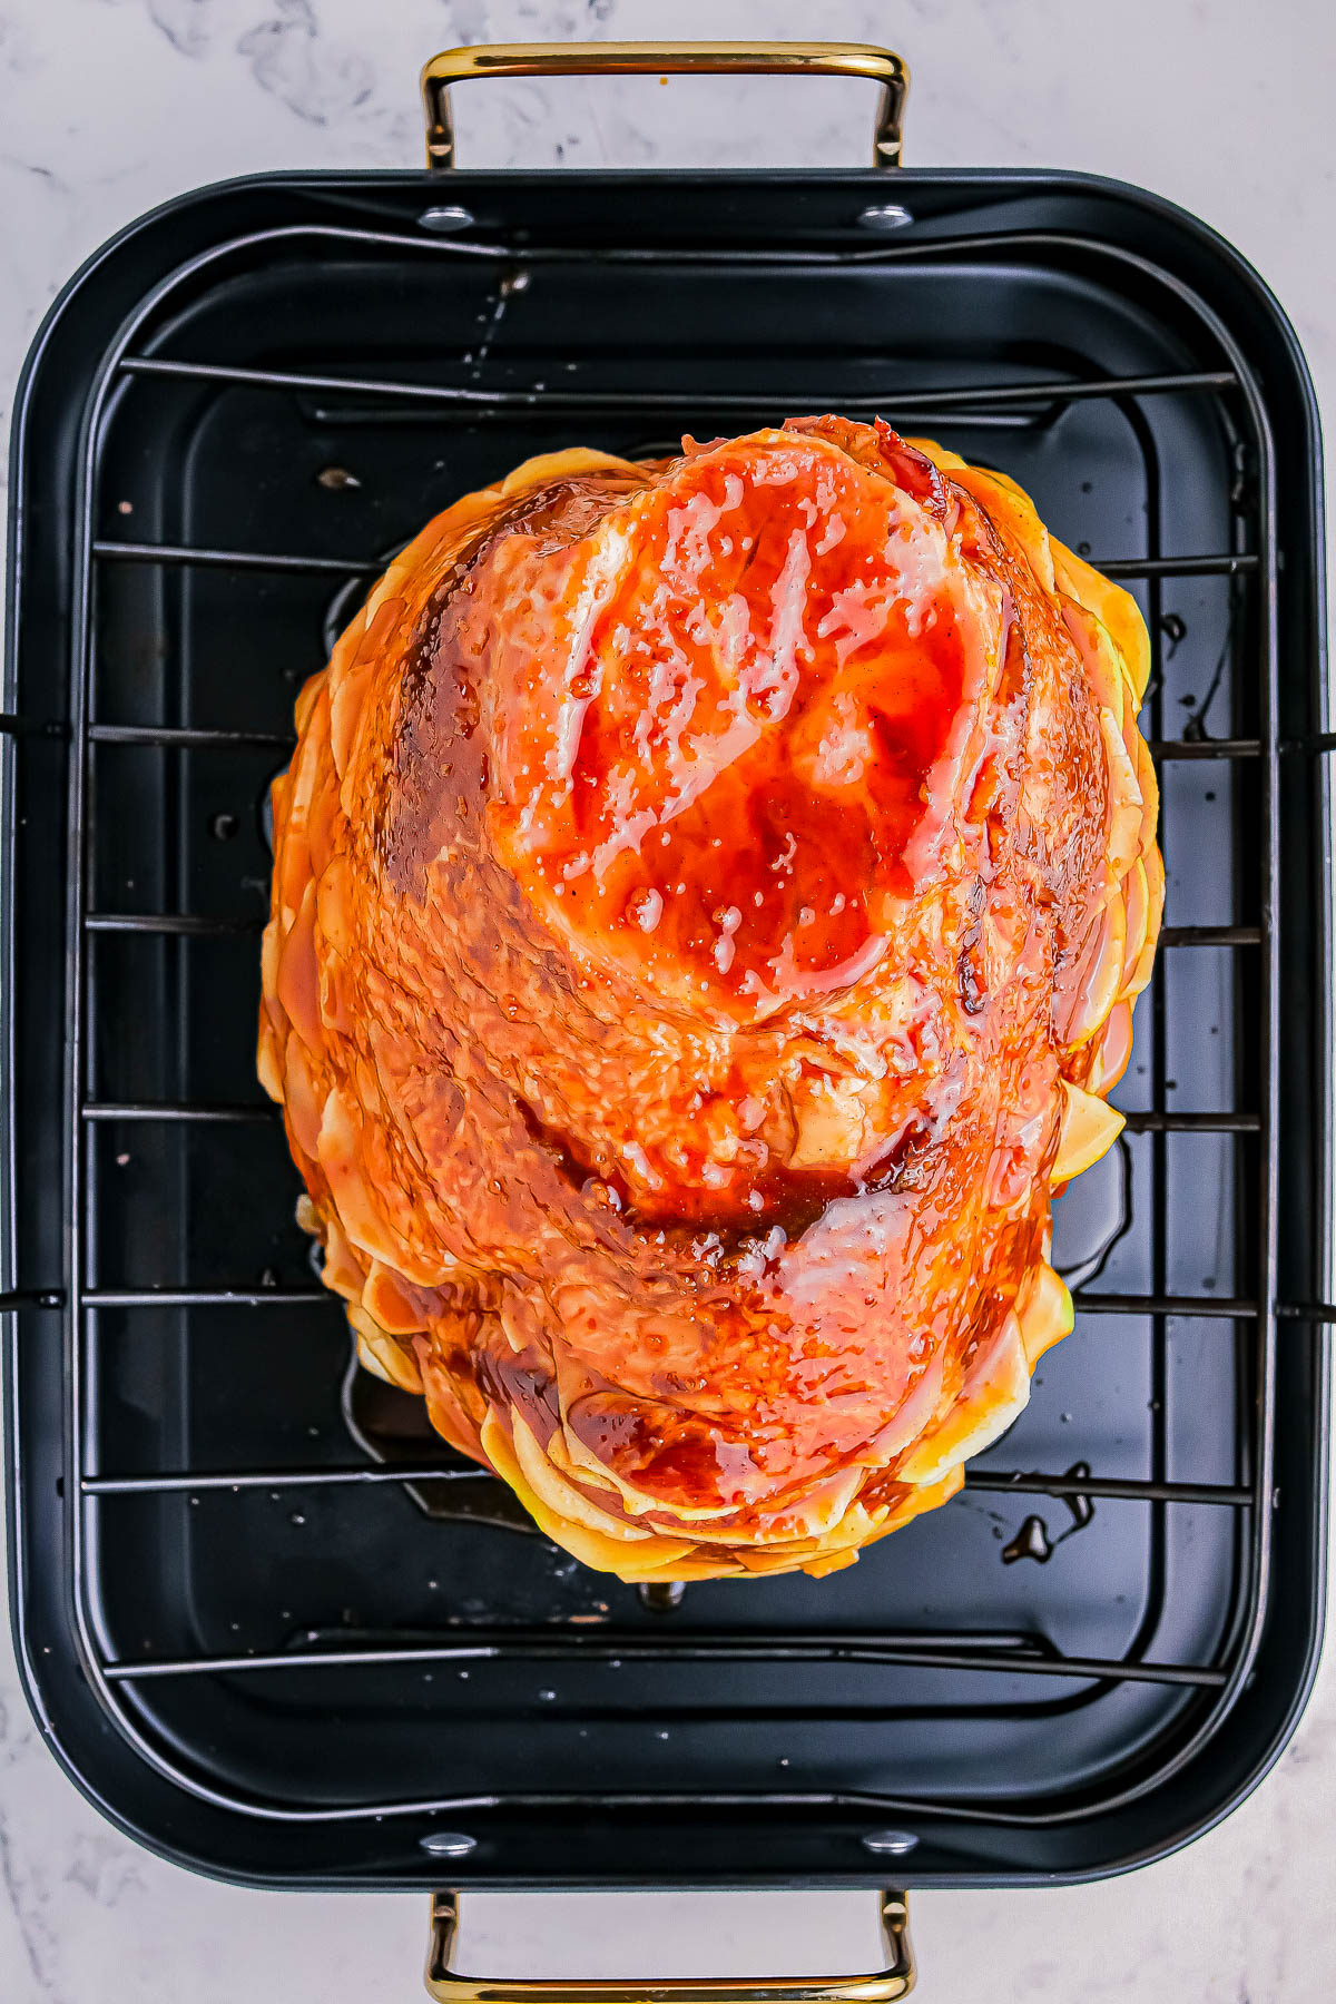
[[[893,2004],[913,1990],[913,1950],[909,1948],[909,1904],[903,1892],[879,1892],[877,1912],[885,1942],[885,1968],[873,1976],[679,1976],[667,1982],[461,1976],[451,1968],[459,1938],[459,1894],[439,1892],[431,1900],[431,1946],[427,1950],[427,1994],[437,2004]]]

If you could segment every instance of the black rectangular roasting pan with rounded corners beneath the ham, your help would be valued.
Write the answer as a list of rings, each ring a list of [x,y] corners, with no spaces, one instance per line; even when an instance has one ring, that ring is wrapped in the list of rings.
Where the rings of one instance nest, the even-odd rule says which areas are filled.
[[[1322,1627],[1334,739],[1294,335],[1204,224],[1084,174],[465,172],[439,116],[435,146],[156,210],[18,395],[2,1307],[34,1711],[114,1822],[248,1884],[1156,1858],[1276,1758]],[[1138,591],[1166,936],[1128,1132],[1058,1210],[1078,1327],[1022,1421],[847,1573],[655,1603],[347,1371],[254,1082],[262,802],[300,681],[447,499],[563,443],[827,409],[1004,467]]]

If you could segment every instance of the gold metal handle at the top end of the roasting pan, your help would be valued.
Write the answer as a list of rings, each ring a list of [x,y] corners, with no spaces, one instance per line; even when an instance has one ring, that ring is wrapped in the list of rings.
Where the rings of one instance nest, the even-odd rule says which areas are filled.
[[[899,166],[909,70],[869,42],[485,42],[445,48],[423,70],[427,166],[455,166],[451,84],[471,76],[867,76],[881,84],[873,166]]]

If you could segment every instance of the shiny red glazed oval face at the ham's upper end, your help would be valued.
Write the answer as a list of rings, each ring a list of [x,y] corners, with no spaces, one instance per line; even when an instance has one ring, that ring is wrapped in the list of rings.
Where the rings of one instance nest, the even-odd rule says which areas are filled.
[[[633,557],[581,551],[561,679],[523,621],[493,649],[501,852],[667,994],[755,1018],[845,988],[933,868],[985,635],[945,533],[869,487],[807,439],[713,447],[645,497]],[[497,563],[517,597],[551,571]]]

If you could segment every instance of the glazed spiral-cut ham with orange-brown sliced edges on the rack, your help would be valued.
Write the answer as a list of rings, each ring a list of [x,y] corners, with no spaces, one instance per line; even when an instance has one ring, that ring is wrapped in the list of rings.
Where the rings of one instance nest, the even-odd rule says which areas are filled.
[[[835,1571],[1026,1405],[1164,902],[1146,675],[1010,479],[821,417],[527,461],[302,689],[298,1214],[577,1559]]]

